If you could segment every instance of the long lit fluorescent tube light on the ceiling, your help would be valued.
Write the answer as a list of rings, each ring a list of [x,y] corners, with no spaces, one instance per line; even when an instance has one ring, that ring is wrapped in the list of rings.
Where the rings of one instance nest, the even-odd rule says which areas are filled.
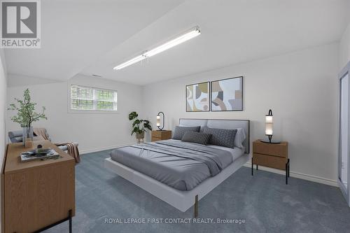
[[[180,43],[183,43],[185,41],[188,41],[191,38],[195,38],[196,36],[199,36],[199,35],[200,35],[200,28],[194,27],[193,29],[188,30],[188,32],[186,32],[185,34],[182,34],[181,36],[178,36],[178,37],[172,39],[171,41],[163,43],[162,45],[158,46],[157,48],[153,48],[152,50],[143,52],[141,55],[134,57],[134,58],[130,59],[129,61],[124,62],[124,63],[114,67],[113,69],[115,69],[115,70],[123,69],[127,66],[134,64],[134,63],[140,62],[141,60],[143,60],[145,58],[152,57],[154,55],[157,55],[160,52],[168,50],[169,48],[173,48],[174,46],[179,45]]]

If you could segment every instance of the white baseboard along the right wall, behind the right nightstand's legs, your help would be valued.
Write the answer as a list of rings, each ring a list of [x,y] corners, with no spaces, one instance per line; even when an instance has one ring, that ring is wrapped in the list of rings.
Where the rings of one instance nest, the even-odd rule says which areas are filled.
[[[251,162],[247,162],[246,164],[244,164],[244,167],[250,167],[251,168]],[[255,169],[255,166],[254,166]],[[281,175],[285,175],[286,171],[282,171],[279,169],[273,169],[273,168],[269,168],[269,167],[263,167],[259,165],[259,169],[262,171],[269,171],[269,172],[273,172],[276,174],[281,174]],[[337,181],[333,181],[330,180],[328,178],[323,178],[323,177],[319,177],[319,176],[312,176],[309,174],[302,174],[299,172],[295,172],[295,171],[290,171],[290,176],[294,177],[294,178],[300,178],[302,180],[306,180],[306,181],[313,181],[316,183],[323,183],[325,185],[330,185],[330,186],[335,186],[335,187],[339,187]]]

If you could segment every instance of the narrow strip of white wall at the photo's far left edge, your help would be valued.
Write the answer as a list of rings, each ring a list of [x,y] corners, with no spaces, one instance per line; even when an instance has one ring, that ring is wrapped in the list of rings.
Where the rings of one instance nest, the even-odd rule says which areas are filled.
[[[3,50],[0,50],[0,167],[2,166],[6,146],[6,92],[6,64]]]

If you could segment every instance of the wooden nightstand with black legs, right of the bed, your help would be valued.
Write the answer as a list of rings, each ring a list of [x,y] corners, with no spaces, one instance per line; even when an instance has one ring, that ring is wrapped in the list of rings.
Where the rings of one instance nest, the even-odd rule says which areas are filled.
[[[275,169],[286,170],[286,184],[289,177],[288,142],[263,143],[260,140],[253,142],[253,157],[251,158],[251,175],[253,176],[253,164]]]

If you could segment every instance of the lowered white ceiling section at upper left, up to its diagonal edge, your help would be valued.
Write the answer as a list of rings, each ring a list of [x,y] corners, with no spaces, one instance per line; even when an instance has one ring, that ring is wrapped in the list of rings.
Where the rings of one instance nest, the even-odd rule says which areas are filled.
[[[42,0],[41,48],[6,49],[8,73],[68,80],[184,0]]]

